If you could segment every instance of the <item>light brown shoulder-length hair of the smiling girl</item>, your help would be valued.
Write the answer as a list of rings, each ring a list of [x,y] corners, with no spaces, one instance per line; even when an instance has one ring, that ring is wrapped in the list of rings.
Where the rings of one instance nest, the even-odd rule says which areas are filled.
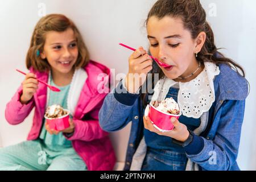
[[[31,38],[30,48],[27,52],[27,69],[33,67],[35,71],[49,71],[51,67],[48,61],[46,59],[43,60],[40,56],[38,56],[38,51],[43,52],[47,32],[63,32],[68,28],[73,30],[77,41],[77,47],[79,49],[79,55],[75,63],[75,68],[85,67],[85,65],[89,63],[89,52],[75,23],[73,23],[72,20],[68,19],[64,15],[50,14],[41,18],[36,24]]]

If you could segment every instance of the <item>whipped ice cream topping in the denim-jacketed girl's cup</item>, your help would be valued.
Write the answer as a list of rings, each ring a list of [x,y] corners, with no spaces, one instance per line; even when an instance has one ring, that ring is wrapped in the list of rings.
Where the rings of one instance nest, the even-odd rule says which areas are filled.
[[[152,105],[156,109],[164,113],[176,114],[176,115],[180,113],[179,105],[172,97],[166,98],[166,100],[164,101],[152,101]]]

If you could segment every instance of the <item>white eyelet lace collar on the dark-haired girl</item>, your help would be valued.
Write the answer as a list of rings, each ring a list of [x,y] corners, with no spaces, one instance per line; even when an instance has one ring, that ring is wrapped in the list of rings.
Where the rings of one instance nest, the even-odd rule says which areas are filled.
[[[154,88],[152,100],[164,100],[171,86],[179,84],[177,102],[186,117],[200,118],[215,101],[213,80],[220,74],[214,63],[205,62],[204,70],[189,82],[175,82],[167,77],[160,79]]]

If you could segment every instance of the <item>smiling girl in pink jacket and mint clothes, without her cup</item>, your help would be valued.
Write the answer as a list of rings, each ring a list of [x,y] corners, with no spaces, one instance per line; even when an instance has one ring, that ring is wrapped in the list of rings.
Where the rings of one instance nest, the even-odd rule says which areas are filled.
[[[18,125],[35,107],[33,125],[28,141],[0,149],[0,170],[112,170],[112,143],[98,123],[110,71],[89,60],[75,24],[59,14],[40,19],[26,65],[30,73],[7,104],[5,117]],[[36,78],[60,92],[49,90]],[[44,114],[53,104],[70,111],[67,129],[49,129]]]

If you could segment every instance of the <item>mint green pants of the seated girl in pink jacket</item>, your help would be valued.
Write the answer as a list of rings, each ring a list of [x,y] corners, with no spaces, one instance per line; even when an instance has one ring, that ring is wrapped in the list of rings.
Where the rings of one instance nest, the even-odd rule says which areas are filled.
[[[46,146],[43,140],[0,148],[0,171],[84,171],[86,165],[75,150]]]

